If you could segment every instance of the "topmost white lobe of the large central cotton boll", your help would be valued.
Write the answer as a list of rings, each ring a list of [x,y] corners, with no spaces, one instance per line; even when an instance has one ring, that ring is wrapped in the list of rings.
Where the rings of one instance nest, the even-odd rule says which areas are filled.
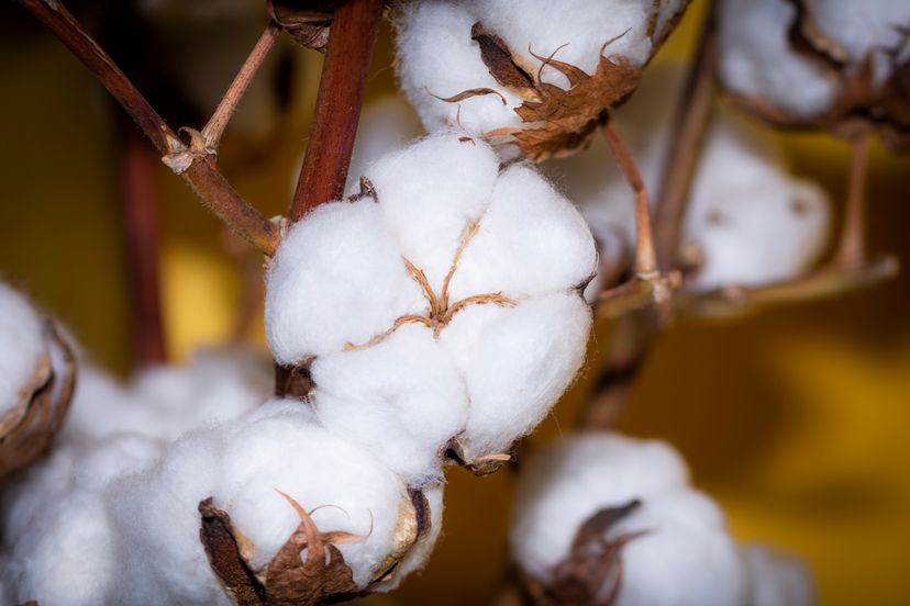
[[[436,292],[442,292],[465,231],[489,206],[498,172],[499,160],[488,145],[451,133],[422,139],[368,167],[366,177],[388,231]]]

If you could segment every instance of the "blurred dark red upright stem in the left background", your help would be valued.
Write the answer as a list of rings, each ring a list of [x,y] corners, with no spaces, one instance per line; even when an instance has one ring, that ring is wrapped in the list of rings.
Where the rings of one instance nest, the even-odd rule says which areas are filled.
[[[121,136],[121,191],[133,300],[133,341],[140,364],[164,362],[155,158],[135,128]]]

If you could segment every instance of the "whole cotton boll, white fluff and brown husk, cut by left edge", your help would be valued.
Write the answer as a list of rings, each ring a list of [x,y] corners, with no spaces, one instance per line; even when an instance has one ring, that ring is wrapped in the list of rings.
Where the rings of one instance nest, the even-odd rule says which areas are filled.
[[[76,358],[55,322],[0,283],[0,478],[47,449],[75,380]]]

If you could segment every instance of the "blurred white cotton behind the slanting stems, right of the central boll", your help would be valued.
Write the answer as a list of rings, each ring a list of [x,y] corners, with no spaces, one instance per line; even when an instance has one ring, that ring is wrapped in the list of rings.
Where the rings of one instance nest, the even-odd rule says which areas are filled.
[[[681,74],[676,65],[655,66],[636,103],[615,113],[615,126],[652,192],[659,187]],[[604,279],[621,276],[635,242],[634,198],[606,142],[548,162],[546,170],[588,220]],[[766,136],[721,113],[708,132],[682,225],[679,260],[690,269],[688,288],[761,285],[797,277],[823,251],[829,224],[822,190],[791,177]]]

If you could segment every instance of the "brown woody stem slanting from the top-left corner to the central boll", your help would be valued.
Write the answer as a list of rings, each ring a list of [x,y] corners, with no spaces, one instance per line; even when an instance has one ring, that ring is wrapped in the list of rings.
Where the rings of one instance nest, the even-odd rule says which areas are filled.
[[[167,157],[189,153],[189,148],[168,127],[130,79],[120,70],[101,47],[81,29],[79,23],[56,0],[21,0],[60,42],[85,65],[89,71],[116,99],[127,114],[138,124],[159,154]],[[277,225],[252,207],[228,183],[204,157],[195,157],[180,172],[202,203],[221,221],[253,246],[271,255],[278,246],[280,233]]]

